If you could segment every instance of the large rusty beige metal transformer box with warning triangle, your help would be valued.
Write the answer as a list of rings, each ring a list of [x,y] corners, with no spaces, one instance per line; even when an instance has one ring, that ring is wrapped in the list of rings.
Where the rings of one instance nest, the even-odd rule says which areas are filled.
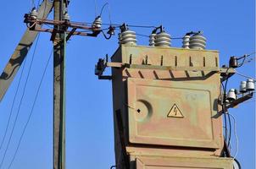
[[[125,65],[112,68],[118,169],[125,156],[130,168],[232,168],[220,157],[219,52],[123,45],[111,61]]]

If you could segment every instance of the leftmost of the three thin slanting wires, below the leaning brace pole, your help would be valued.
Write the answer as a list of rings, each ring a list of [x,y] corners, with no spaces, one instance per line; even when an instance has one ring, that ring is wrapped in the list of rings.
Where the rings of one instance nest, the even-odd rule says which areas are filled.
[[[15,94],[14,94],[14,100],[12,102],[12,106],[11,106],[11,110],[10,110],[10,113],[9,113],[9,116],[8,116],[8,123],[7,123],[7,126],[5,128],[5,131],[4,131],[4,134],[3,134],[3,139],[1,141],[1,145],[0,145],[0,150],[2,150],[2,147],[3,147],[3,142],[6,138],[6,134],[8,132],[8,128],[9,128],[9,123],[10,123],[10,120],[11,120],[11,117],[13,115],[13,110],[14,110],[14,102],[16,101],[16,97],[17,97],[17,94],[18,94],[18,91],[19,91],[19,85],[20,85],[20,82],[21,82],[21,79],[23,77],[23,73],[24,73],[24,68],[25,68],[25,63],[26,63],[26,57],[25,57],[25,61],[24,61],[24,64],[22,65],[22,69],[21,69],[21,74],[20,74],[20,77],[19,77],[19,82],[18,82],[18,86],[16,88],[16,91],[15,91]]]

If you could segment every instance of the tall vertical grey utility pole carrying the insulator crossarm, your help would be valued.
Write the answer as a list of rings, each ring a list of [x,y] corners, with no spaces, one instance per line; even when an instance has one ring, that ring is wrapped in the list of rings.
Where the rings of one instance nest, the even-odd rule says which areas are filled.
[[[54,0],[54,20],[62,21],[65,0]],[[55,25],[53,40],[53,169],[65,169],[65,47],[66,35],[62,25]]]

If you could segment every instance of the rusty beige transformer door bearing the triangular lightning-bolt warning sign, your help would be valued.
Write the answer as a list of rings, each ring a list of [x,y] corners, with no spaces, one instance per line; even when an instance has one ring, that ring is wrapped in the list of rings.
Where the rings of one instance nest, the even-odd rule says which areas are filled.
[[[130,143],[220,149],[218,86],[130,78],[127,93]]]

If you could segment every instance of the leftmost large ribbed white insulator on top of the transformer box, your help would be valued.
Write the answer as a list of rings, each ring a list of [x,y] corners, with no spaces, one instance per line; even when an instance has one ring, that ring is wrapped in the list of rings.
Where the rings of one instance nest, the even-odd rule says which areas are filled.
[[[119,44],[136,45],[136,33],[131,30],[124,30],[119,34]]]

